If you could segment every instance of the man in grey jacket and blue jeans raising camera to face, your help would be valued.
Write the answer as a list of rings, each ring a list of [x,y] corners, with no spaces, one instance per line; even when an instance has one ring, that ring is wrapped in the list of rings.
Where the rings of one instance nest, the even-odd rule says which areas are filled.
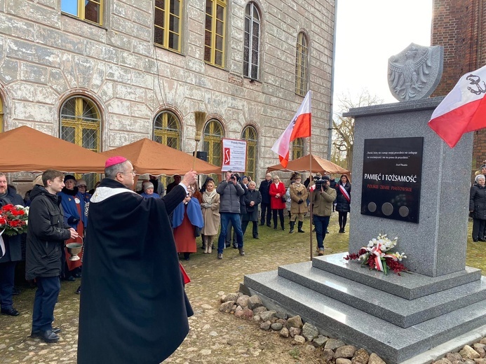
[[[224,242],[228,223],[231,221],[236,232],[236,241],[240,255],[245,255],[243,251],[243,231],[241,230],[240,219],[240,196],[245,194],[245,190],[236,180],[236,176],[231,171],[226,172],[226,180],[217,186],[216,192],[220,194],[220,216],[221,232],[217,240],[217,258],[223,258]]]

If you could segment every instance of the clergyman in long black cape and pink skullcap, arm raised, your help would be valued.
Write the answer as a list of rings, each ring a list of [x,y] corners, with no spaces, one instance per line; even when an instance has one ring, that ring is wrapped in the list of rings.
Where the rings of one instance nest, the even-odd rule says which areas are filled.
[[[193,314],[169,214],[196,172],[162,199],[131,190],[135,170],[126,158],[109,158],[104,174],[88,212],[78,363],[161,363],[186,337]]]

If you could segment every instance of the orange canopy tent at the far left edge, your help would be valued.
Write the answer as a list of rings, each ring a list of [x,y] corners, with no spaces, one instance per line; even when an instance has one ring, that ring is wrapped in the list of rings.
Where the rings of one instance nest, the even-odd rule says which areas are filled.
[[[104,155],[27,126],[0,133],[0,148],[0,172],[104,173]]]

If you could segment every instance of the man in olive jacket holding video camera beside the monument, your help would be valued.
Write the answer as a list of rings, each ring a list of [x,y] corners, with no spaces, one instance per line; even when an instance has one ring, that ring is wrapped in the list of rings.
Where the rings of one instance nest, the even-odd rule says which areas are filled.
[[[316,189],[311,193],[313,204],[313,223],[316,227],[318,255],[324,255],[325,232],[332,214],[332,202],[336,200],[336,190],[330,188],[330,179],[323,176],[316,181]]]

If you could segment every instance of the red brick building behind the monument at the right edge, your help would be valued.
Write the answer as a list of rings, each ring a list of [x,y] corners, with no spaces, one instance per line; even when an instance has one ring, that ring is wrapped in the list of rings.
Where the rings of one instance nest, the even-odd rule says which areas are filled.
[[[486,0],[434,0],[431,44],[444,46],[442,80],[432,96],[450,92],[466,72],[486,64]],[[474,132],[472,168],[486,160],[486,130]]]

